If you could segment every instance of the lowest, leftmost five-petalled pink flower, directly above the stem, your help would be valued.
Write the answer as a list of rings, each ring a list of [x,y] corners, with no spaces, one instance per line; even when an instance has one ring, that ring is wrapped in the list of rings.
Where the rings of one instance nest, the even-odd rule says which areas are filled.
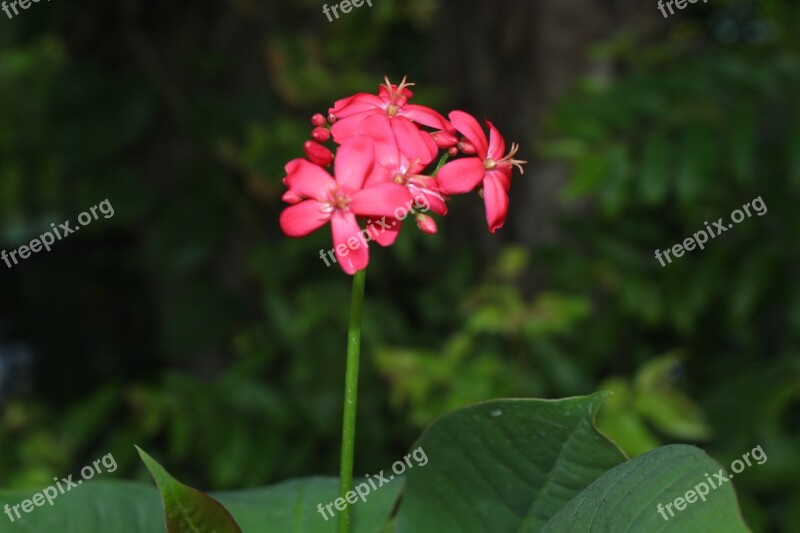
[[[331,223],[336,258],[348,274],[366,268],[369,252],[356,216],[391,217],[410,200],[408,189],[396,183],[363,188],[374,165],[370,139],[353,137],[336,154],[334,175],[305,159],[286,165],[284,195],[296,201],[281,213],[281,229],[290,237],[304,237]]]

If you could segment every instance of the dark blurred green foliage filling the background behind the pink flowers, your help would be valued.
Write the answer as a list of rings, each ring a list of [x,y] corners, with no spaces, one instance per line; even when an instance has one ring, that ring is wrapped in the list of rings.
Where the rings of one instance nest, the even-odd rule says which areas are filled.
[[[745,516],[800,531],[800,18],[788,0],[712,3],[613,24],[578,51],[602,68],[535,127],[492,116],[528,159],[562,164],[555,237],[515,238],[536,223],[514,195],[535,162],[502,246],[473,235],[476,199],[440,235],[373,251],[359,471],[454,407],[603,388],[598,423],[630,455],[690,442],[729,464],[762,445],[736,479]],[[147,479],[134,443],[201,488],[336,474],[349,279],[318,258],[327,233],[280,234],[282,166],[312,113],[386,73],[443,111],[491,88],[427,53],[474,12],[377,0],[329,24],[319,8],[131,0],[0,20],[0,245],[115,209],[0,264],[4,487],[108,452]],[[654,259],[759,196],[763,217]]]

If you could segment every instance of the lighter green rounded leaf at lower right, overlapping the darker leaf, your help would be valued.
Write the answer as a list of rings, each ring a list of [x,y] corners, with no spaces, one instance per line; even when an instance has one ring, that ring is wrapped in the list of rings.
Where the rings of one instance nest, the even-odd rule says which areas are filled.
[[[537,531],[746,532],[730,475],[698,448],[664,446],[603,474]],[[691,503],[688,491],[694,493]],[[684,500],[682,510],[675,507],[676,498]]]

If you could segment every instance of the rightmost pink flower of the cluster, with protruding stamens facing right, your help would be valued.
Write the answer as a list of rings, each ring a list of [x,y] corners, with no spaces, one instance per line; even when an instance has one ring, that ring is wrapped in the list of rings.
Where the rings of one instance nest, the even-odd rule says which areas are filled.
[[[474,147],[477,157],[456,159],[443,166],[436,179],[442,193],[463,194],[481,185],[481,195],[486,205],[486,222],[489,231],[494,233],[503,227],[508,214],[508,190],[511,187],[512,167],[523,173],[522,165],[527,161],[514,159],[519,150],[516,144],[511,145],[508,155],[503,155],[506,143],[494,125],[489,126],[489,139],[478,121],[463,111],[450,113],[450,121],[456,130],[466,137],[469,145]]]

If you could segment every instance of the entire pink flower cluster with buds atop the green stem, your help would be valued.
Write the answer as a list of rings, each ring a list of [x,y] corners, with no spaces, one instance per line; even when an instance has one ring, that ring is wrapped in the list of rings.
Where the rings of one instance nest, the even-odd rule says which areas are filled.
[[[494,233],[508,213],[512,169],[521,173],[525,163],[514,159],[516,144],[505,155],[506,143],[488,120],[487,138],[472,115],[453,111],[448,120],[410,104],[413,84],[405,78],[400,85],[385,81],[377,96],[359,93],[337,101],[327,118],[314,115],[306,158],[285,167],[283,200],[292,205],[281,213],[284,233],[303,237],[330,222],[336,260],[351,275],[369,262],[367,241],[394,243],[412,203],[445,215],[449,196],[479,189]],[[338,146],[335,156],[324,144],[331,141]],[[445,154],[434,165],[440,151]],[[448,161],[457,156],[464,157]],[[433,218],[410,209],[422,231],[436,233]],[[359,219],[369,218],[381,218],[389,229],[375,231],[368,221],[362,230]]]

